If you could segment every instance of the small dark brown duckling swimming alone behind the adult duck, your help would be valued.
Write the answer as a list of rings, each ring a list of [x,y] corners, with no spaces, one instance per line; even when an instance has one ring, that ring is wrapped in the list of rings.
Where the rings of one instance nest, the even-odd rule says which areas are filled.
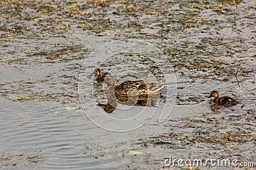
[[[213,90],[211,92],[211,95],[208,97],[214,97],[213,102],[220,104],[220,105],[236,105],[237,103],[239,103],[238,101],[236,101],[236,99],[232,98],[232,97],[228,97],[228,96],[223,96],[223,97],[219,97],[219,93],[216,90]]]

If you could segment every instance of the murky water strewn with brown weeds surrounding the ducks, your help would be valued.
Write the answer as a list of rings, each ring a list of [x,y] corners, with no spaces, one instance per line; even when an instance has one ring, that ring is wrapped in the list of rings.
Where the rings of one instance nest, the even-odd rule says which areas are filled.
[[[256,164],[254,1],[0,1],[0,8],[1,169],[168,169],[164,160],[170,156],[214,159],[216,152]],[[165,81],[157,68],[164,70],[166,62],[150,74],[142,67],[160,52],[141,46],[125,51],[125,60],[116,53],[100,65],[109,49],[97,62],[89,58],[100,46],[127,38],[164,53],[172,66],[165,74],[175,73],[178,88],[163,89],[157,108],[167,104],[171,110],[166,98],[175,98],[175,106],[163,123],[153,115],[134,131],[109,132],[84,114],[83,108],[98,113],[98,103],[79,102],[78,86],[91,83],[80,79],[82,66],[91,72],[114,66],[124,81],[128,77],[119,73],[134,73],[137,63],[143,77]],[[211,90],[240,104],[214,106],[207,98]],[[85,89],[84,95],[81,101],[102,99],[101,92]],[[128,113],[106,115],[130,118]]]

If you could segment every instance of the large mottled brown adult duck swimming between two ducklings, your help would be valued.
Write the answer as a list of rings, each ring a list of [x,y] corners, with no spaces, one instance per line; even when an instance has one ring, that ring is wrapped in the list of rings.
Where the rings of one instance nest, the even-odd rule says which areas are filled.
[[[105,82],[108,85],[108,89],[115,90],[116,96],[156,96],[166,86],[166,84],[158,86],[158,83],[148,80],[129,80],[116,85],[116,80],[113,76],[107,76]],[[107,91],[109,91],[108,89]]]

